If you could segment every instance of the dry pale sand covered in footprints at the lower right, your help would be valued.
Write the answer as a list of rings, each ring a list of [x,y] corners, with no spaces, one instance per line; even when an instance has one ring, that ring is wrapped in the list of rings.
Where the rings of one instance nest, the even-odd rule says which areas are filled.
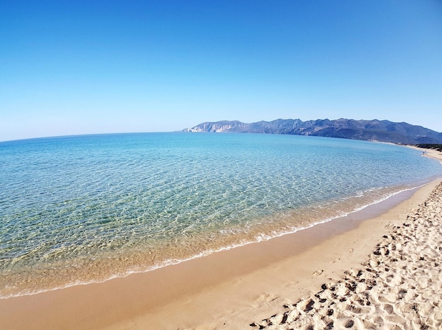
[[[340,281],[255,322],[258,329],[441,329],[442,183]]]

